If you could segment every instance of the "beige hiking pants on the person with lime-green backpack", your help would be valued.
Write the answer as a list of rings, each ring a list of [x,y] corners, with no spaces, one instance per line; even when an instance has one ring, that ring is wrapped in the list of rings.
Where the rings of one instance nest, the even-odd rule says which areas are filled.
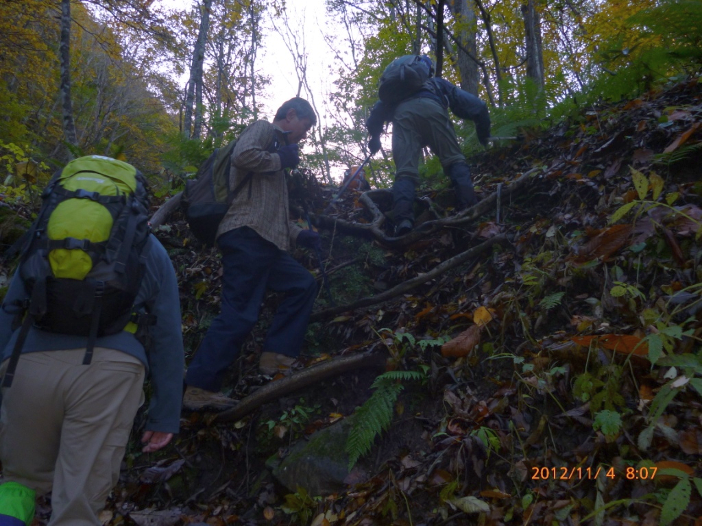
[[[91,365],[82,365],[84,354],[22,354],[12,386],[2,392],[2,482],[38,495],[52,491],[50,526],[100,525],[143,403],[144,365],[137,358],[98,347]]]

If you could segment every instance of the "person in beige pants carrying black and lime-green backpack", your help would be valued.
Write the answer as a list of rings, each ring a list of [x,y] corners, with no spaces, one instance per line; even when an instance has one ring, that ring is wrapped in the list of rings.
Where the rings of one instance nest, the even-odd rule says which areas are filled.
[[[178,432],[178,283],[128,163],[74,159],[49,182],[0,309],[0,526],[99,525],[151,380],[143,452]]]

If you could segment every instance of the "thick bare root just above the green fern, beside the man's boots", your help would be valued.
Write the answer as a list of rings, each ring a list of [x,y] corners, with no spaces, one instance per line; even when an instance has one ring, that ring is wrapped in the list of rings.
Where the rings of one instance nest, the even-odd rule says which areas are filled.
[[[239,403],[216,414],[211,422],[236,422],[247,414],[255,411],[261,405],[276,400],[293,391],[298,391],[307,386],[317,384],[323,379],[343,375],[345,372],[364,369],[366,367],[383,367],[385,356],[380,351],[340,356],[329,361],[313,365],[308,369],[293,372],[292,375],[265,384],[254,393],[243,398]]]

